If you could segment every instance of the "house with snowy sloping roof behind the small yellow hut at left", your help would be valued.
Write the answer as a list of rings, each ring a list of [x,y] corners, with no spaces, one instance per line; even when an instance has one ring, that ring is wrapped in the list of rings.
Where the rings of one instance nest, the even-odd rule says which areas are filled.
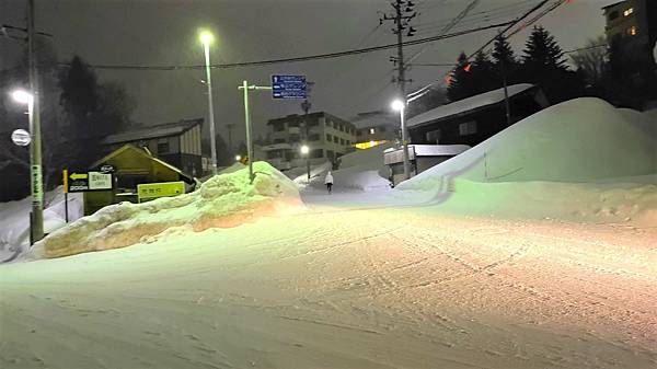
[[[155,126],[140,127],[107,136],[102,143],[107,151],[126,143],[148,151],[193,176],[204,174],[200,149],[203,118],[183,119]]]

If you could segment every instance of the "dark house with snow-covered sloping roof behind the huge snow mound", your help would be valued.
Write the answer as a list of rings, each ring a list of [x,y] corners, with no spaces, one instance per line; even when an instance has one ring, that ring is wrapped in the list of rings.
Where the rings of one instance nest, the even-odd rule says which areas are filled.
[[[511,124],[549,106],[533,84],[508,87]],[[411,142],[474,147],[507,127],[504,89],[463,99],[416,115],[407,124]]]

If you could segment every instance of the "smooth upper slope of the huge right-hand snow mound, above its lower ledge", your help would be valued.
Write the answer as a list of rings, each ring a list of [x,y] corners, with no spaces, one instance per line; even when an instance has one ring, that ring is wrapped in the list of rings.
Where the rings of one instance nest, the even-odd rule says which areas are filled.
[[[654,122],[586,97],[541,111],[397,186],[437,188],[443,177],[475,182],[590,182],[657,172]]]

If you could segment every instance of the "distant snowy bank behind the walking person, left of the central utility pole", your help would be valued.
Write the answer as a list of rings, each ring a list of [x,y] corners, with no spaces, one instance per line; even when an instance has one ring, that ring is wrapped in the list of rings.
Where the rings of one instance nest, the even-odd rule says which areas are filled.
[[[384,143],[341,157],[339,169],[331,172],[334,181],[334,191],[390,188],[388,168],[383,164],[383,151],[391,147],[392,143]],[[324,176],[328,170],[331,168],[325,166],[323,171],[316,172],[311,178],[310,187],[323,189]],[[295,180],[297,183],[304,183],[306,181],[304,175]]]

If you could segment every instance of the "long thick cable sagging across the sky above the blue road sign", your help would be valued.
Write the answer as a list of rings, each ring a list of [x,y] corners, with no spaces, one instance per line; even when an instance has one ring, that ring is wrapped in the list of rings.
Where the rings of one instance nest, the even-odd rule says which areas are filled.
[[[477,32],[487,31],[487,30],[492,30],[492,28],[498,28],[500,26],[508,25],[509,23],[510,22],[505,22],[505,23],[500,23],[500,24],[492,24],[492,25],[481,26],[481,27],[471,28],[471,30],[466,30],[466,31],[453,32],[453,33],[446,34],[446,35],[438,35],[438,36],[433,36],[433,37],[406,41],[406,42],[403,42],[403,46],[422,45],[422,44],[431,43],[431,42],[436,42],[436,41],[440,41],[440,39],[453,38],[453,37],[466,35],[466,34],[471,34],[471,33],[477,33]],[[210,66],[210,68],[229,69],[229,68],[240,68],[240,67],[267,66],[267,65],[276,65],[276,64],[284,64],[284,62],[300,62],[300,61],[319,60],[319,59],[332,59],[332,58],[339,58],[339,57],[345,57],[345,56],[350,56],[350,55],[359,55],[359,54],[380,51],[380,50],[385,50],[385,49],[391,49],[391,48],[396,48],[396,47],[397,47],[397,44],[395,43],[395,44],[389,44],[389,45],[372,46],[372,47],[366,47],[366,48],[360,48],[360,49],[328,53],[328,54],[318,54],[318,55],[310,55],[310,56],[303,56],[303,57],[269,59],[269,60],[260,60],[260,61],[231,62],[231,64],[214,64]],[[59,62],[58,65],[64,66],[64,67],[69,66],[68,62]],[[161,71],[205,68],[205,66],[199,66],[199,65],[196,65],[196,66],[89,65],[89,67],[94,68],[94,69],[161,70]]]

